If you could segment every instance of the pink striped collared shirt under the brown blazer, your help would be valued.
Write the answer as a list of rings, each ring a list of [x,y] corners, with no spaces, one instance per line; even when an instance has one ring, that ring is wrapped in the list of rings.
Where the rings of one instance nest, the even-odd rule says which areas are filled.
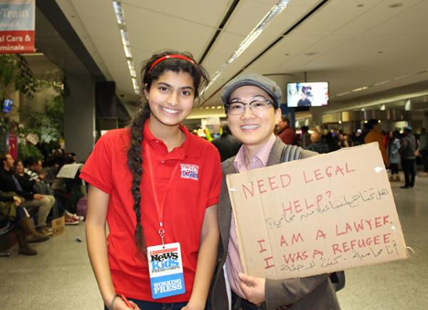
[[[270,150],[275,143],[275,135],[272,134],[272,137],[267,141],[265,145],[258,151],[255,157],[250,159],[250,167],[247,167],[245,164],[245,148],[241,146],[238,154],[233,161],[235,170],[238,172],[245,172],[248,170],[253,170],[257,168],[263,168],[267,165],[267,159],[269,158]],[[230,220],[230,239],[228,244],[228,257],[226,258],[226,271],[228,272],[228,279],[230,283],[230,288],[238,296],[246,299],[244,292],[240,289],[240,279],[238,274],[243,272],[243,267],[240,263],[239,249],[238,249],[238,240],[236,239],[236,228],[235,228],[235,217]]]

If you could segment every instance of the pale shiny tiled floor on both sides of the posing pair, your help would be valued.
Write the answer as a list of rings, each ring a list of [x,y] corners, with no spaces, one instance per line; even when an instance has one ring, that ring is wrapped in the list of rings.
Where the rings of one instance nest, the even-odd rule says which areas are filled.
[[[342,309],[428,309],[428,177],[413,189],[393,182],[397,210],[410,258],[351,269],[338,293]],[[77,242],[76,238],[81,238]],[[0,309],[103,309],[86,254],[84,226],[34,244],[35,257],[0,257]]]

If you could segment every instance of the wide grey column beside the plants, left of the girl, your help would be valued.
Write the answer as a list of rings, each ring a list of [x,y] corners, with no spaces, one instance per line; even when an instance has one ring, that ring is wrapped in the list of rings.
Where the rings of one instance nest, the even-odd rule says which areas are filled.
[[[66,152],[74,152],[78,162],[86,160],[95,144],[95,91],[89,74],[67,75],[70,94],[64,105]]]

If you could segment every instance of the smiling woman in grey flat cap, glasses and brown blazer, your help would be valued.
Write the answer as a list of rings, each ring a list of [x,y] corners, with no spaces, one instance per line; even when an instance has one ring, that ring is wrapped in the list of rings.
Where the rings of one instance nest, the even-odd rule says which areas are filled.
[[[222,100],[230,131],[243,145],[235,157],[222,164],[223,184],[218,202],[220,265],[213,279],[210,299],[214,310],[340,309],[328,274],[299,279],[263,279],[244,274],[240,264],[225,176],[281,162],[285,144],[273,134],[281,118],[280,98],[281,90],[274,81],[253,73],[241,74],[223,88]],[[297,148],[299,158],[317,154],[293,148]]]

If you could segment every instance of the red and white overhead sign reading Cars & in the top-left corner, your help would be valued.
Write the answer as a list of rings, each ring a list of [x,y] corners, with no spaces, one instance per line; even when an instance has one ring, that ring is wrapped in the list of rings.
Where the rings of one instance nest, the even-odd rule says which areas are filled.
[[[0,0],[0,53],[34,53],[34,0]]]

